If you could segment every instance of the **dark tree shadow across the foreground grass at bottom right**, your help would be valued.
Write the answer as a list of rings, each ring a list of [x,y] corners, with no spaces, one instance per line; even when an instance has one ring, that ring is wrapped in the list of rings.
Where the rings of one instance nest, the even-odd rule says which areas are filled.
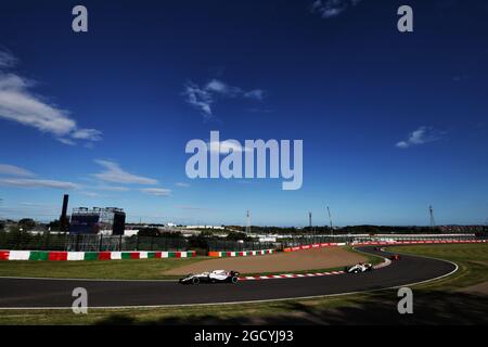
[[[338,307],[283,303],[275,314],[256,316],[254,309],[241,310],[232,317],[189,314],[185,317],[162,317],[153,320],[136,320],[130,313],[108,316],[98,324],[487,324],[488,296],[465,293],[414,292],[413,314],[399,314],[396,291],[370,294],[365,299],[350,299]]]

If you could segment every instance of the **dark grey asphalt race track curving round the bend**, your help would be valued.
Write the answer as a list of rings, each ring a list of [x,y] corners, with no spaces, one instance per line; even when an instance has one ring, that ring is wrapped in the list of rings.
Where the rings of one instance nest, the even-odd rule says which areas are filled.
[[[359,250],[387,256],[375,247]],[[439,278],[455,270],[442,260],[402,255],[390,266],[360,274],[181,285],[177,281],[0,279],[1,308],[72,307],[73,290],[88,291],[88,306],[129,307],[273,300],[375,291]],[[210,269],[209,269],[210,270]],[[229,269],[231,270],[231,269]]]

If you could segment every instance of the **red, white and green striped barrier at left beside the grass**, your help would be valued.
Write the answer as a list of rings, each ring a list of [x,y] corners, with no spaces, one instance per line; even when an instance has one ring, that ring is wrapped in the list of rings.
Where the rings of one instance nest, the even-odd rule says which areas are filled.
[[[54,250],[0,250],[0,260],[120,260],[191,258],[195,250],[185,252],[54,252]]]

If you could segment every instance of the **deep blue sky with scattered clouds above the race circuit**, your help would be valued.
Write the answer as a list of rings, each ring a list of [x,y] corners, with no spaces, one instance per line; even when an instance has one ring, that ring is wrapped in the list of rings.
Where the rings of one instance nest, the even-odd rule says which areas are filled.
[[[75,34],[74,5],[89,31]],[[414,33],[400,34],[410,4]],[[484,223],[485,1],[2,1],[0,217]],[[304,140],[304,184],[187,178],[189,140]]]

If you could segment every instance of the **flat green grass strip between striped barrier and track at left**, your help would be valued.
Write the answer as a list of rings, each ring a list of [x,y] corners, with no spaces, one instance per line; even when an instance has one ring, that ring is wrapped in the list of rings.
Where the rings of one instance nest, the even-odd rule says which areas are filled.
[[[174,268],[208,259],[165,258],[87,261],[0,261],[0,277],[69,278],[107,280],[164,280]]]

